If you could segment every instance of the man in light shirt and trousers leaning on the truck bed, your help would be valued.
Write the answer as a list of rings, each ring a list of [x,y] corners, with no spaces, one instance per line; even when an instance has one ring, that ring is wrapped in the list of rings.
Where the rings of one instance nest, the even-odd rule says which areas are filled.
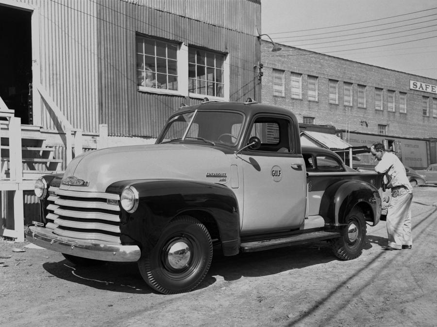
[[[387,188],[391,189],[391,199],[387,212],[388,245],[385,250],[411,249],[411,202],[413,188],[411,187],[401,160],[392,153],[386,152],[384,144],[375,143],[370,152],[379,162],[375,171],[385,174]]]

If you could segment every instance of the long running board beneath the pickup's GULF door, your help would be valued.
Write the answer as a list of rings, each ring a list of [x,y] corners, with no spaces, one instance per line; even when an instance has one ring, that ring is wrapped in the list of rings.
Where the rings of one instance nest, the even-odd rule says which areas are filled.
[[[312,243],[330,238],[340,237],[338,232],[317,231],[281,238],[272,238],[261,241],[244,242],[240,244],[241,252],[255,252],[269,249],[283,248],[291,245]]]

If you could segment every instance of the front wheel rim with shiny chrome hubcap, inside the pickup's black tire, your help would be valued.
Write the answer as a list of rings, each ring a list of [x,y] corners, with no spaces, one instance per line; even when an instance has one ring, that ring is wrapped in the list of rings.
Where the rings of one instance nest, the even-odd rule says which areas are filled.
[[[184,272],[192,262],[193,247],[186,237],[175,237],[164,247],[163,262],[172,273]]]

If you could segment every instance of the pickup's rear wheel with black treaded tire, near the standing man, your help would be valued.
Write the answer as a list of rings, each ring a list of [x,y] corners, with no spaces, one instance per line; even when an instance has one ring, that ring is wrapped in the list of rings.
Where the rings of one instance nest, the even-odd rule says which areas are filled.
[[[340,238],[332,241],[332,250],[338,259],[352,260],[363,252],[367,225],[363,212],[358,208],[353,208],[346,221],[348,226]]]

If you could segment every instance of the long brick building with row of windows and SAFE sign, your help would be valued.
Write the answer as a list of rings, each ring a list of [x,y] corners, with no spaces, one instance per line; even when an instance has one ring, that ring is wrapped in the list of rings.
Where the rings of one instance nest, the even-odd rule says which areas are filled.
[[[403,143],[419,144],[420,154],[411,153],[409,147],[407,155],[404,149],[405,157],[421,158],[409,162],[412,167],[436,162],[436,79],[281,48],[272,52],[272,44],[262,41],[262,90],[257,101],[292,110],[300,123],[333,125],[352,145],[377,136],[401,157]],[[348,140],[351,133],[356,144]]]

